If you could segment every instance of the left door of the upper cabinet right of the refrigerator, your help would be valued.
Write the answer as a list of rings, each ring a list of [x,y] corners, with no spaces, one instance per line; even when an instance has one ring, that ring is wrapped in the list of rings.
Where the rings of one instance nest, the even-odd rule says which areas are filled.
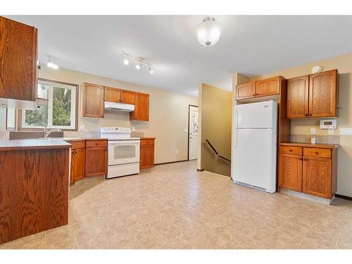
[[[309,75],[287,80],[287,118],[308,117]]]

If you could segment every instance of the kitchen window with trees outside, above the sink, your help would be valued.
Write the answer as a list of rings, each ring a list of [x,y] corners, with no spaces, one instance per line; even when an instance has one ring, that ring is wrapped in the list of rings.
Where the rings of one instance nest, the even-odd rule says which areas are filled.
[[[37,110],[23,110],[22,128],[61,128],[76,130],[77,85],[39,80]]]

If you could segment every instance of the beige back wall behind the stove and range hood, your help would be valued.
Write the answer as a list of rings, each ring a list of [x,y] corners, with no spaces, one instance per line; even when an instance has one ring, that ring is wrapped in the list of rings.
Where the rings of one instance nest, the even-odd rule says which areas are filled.
[[[98,131],[99,127],[106,126],[135,127],[136,132],[144,132],[144,136],[156,137],[155,163],[187,160],[188,133],[184,129],[188,128],[188,106],[198,105],[198,98],[64,68],[43,67],[39,77],[73,84],[91,82],[149,94],[149,122],[131,122],[129,113],[108,111],[102,119],[79,118],[78,124],[85,125],[87,131]],[[80,102],[81,99],[80,89]]]

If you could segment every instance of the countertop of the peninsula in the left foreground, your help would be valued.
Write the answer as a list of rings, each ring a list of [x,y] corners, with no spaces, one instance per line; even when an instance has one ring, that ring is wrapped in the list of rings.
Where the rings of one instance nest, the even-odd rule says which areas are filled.
[[[22,149],[61,149],[69,148],[71,144],[63,140],[50,139],[13,139],[0,140],[0,151],[13,151]]]

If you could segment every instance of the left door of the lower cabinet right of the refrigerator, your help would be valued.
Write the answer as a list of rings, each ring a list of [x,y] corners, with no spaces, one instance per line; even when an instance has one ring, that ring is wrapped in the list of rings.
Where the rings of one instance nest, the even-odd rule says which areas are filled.
[[[279,187],[302,191],[302,156],[279,154]]]

